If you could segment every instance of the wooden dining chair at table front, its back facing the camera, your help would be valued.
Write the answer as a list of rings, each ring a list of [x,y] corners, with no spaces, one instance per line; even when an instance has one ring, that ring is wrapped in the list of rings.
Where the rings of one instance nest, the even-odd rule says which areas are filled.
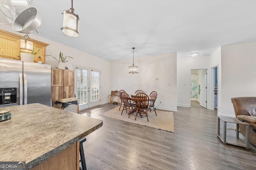
[[[135,96],[135,111],[136,111],[135,120],[136,120],[138,113],[140,115],[145,114],[148,119],[148,103],[149,103],[148,95],[146,95],[144,93],[136,94],[136,96]]]

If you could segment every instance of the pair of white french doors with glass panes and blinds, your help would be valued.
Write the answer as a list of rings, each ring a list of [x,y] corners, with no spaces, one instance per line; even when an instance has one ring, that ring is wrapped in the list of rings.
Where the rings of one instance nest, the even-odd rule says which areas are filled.
[[[100,105],[100,70],[75,66],[75,82],[79,110]]]

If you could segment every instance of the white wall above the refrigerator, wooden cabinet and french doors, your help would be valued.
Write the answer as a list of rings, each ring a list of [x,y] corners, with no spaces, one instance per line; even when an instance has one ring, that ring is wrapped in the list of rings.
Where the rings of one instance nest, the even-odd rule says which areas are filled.
[[[1,25],[1,29],[24,36],[23,34],[13,31],[12,27],[9,25]],[[63,55],[73,57],[73,59],[68,59],[67,62],[67,67],[70,70],[74,70],[74,65],[101,70],[101,104],[109,102],[108,95],[110,94],[110,61],[73,49],[66,45],[56,43],[38,35],[30,34],[29,37],[31,39],[49,44],[46,47],[46,55],[52,55],[58,58],[60,51],[62,51]],[[47,56],[46,62],[49,60],[52,60],[52,57]]]

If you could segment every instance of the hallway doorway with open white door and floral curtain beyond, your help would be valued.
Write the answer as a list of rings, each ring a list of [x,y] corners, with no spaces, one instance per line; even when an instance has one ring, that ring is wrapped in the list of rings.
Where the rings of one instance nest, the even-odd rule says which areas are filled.
[[[207,108],[207,69],[191,70],[190,106]]]

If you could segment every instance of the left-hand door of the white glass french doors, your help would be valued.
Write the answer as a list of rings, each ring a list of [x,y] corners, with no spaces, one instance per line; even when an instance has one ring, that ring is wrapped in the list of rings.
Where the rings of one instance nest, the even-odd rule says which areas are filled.
[[[76,98],[79,102],[79,110],[89,107],[89,68],[75,66]]]

